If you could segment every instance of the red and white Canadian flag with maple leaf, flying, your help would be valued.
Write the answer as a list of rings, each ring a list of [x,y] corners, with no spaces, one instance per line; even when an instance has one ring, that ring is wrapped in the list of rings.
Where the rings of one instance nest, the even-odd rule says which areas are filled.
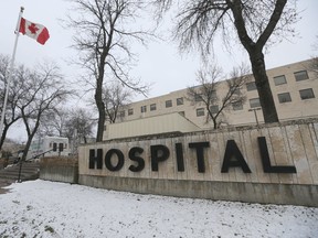
[[[50,37],[49,31],[44,25],[30,22],[24,18],[21,18],[19,32],[36,40],[42,45],[44,45]]]

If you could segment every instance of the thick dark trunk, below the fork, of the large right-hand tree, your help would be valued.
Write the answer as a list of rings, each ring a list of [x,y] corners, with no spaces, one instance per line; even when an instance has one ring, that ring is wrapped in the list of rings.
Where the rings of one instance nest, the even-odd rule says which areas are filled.
[[[262,52],[248,52],[252,64],[252,71],[255,78],[256,88],[259,96],[259,102],[265,123],[278,122],[272,89],[265,68],[264,54]]]

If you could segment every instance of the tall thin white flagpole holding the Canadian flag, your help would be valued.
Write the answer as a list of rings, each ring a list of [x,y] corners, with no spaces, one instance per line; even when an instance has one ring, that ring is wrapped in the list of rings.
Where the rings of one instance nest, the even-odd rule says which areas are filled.
[[[14,31],[15,41],[14,41],[13,53],[12,53],[12,57],[11,57],[11,62],[10,62],[10,72],[9,72],[8,82],[7,82],[6,96],[4,96],[2,115],[1,115],[1,121],[0,121],[0,137],[2,137],[2,132],[3,132],[3,123],[4,123],[4,117],[6,117],[7,101],[8,101],[8,97],[9,97],[10,83],[12,80],[12,74],[13,74],[13,67],[14,67],[14,58],[15,58],[15,52],[17,52],[18,39],[19,39],[19,29],[20,29],[20,22],[21,22],[23,10],[24,10],[24,8],[21,7],[20,8],[19,18],[18,18],[17,28],[15,28],[15,31]]]

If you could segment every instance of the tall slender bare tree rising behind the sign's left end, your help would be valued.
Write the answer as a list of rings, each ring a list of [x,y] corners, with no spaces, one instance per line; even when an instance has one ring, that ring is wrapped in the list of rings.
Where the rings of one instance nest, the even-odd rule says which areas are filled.
[[[98,109],[97,141],[103,140],[105,102],[103,87],[108,80],[118,79],[123,85],[145,94],[148,86],[129,76],[134,54],[131,41],[145,43],[150,34],[144,30],[132,30],[137,13],[144,8],[141,0],[72,0],[77,19],[70,18],[70,25],[76,30],[74,47],[82,54],[80,62],[88,71],[88,84],[95,90]],[[132,29],[130,29],[132,28]]]

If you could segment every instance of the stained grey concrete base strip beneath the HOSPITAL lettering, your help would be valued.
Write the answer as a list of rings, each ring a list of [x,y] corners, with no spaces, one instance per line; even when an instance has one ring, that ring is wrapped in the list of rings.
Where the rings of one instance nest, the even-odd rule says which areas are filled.
[[[318,207],[317,185],[96,177],[87,175],[81,175],[78,183],[93,187],[140,194]]]

